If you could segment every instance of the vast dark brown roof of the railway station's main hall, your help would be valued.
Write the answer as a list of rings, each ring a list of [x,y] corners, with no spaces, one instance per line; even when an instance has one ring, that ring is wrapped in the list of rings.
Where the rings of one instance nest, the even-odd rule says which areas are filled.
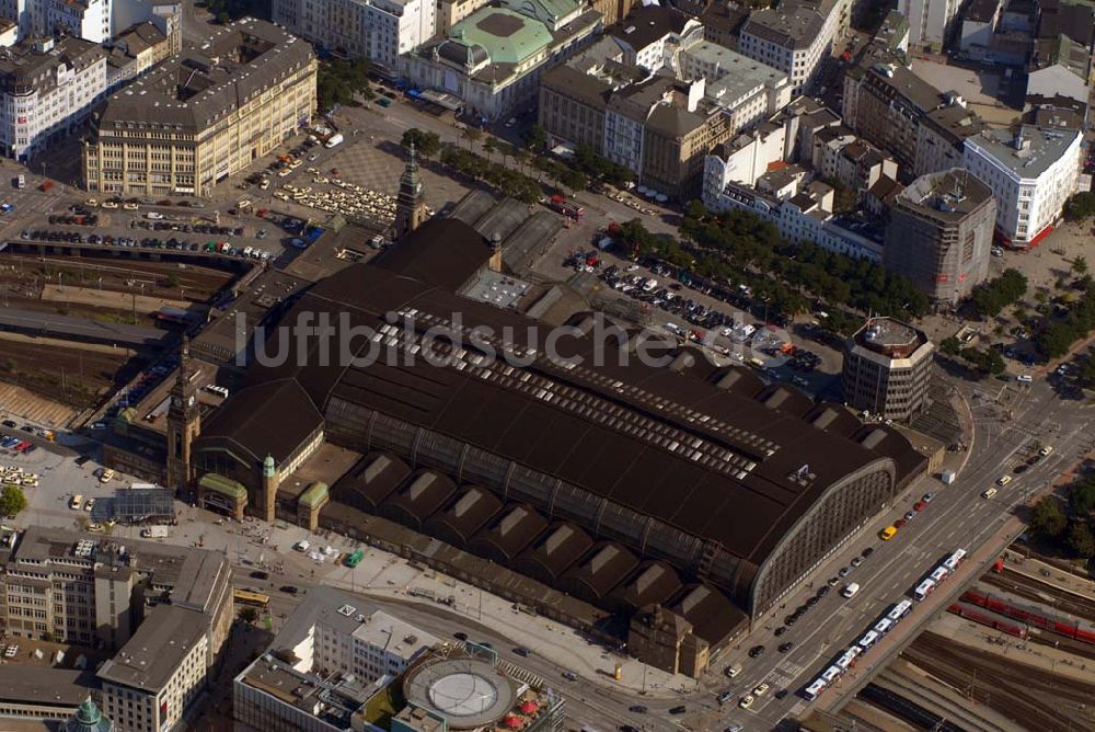
[[[463,225],[450,221],[438,227],[429,222],[416,235],[423,239],[427,233],[430,238],[436,235],[449,244],[457,238],[453,226]],[[393,251],[412,243],[413,238]],[[405,251],[411,249],[417,252],[414,260],[401,260],[408,270],[428,282],[456,279],[438,264],[450,260],[449,247],[431,248],[428,255],[424,245]],[[435,256],[436,250],[446,251]],[[328,311],[345,312],[350,325],[379,328],[383,313],[402,308],[417,310],[419,317],[430,313],[446,320],[460,313],[464,327],[485,325],[496,333],[509,328],[521,339],[529,327],[537,325],[516,312],[460,298],[426,282],[393,277],[392,272],[399,270],[391,260],[388,271],[369,265],[343,270],[308,293],[290,311],[289,322],[296,312]],[[359,339],[358,343],[359,353],[364,353],[368,341]],[[585,363],[593,362],[591,341],[567,339],[560,345],[573,348]],[[714,464],[680,453],[680,441],[677,448],[659,446],[635,431],[613,427],[610,421],[590,419],[466,370],[434,367],[422,358],[413,365],[371,363],[345,370],[316,366],[314,353],[309,362],[311,365],[302,367],[290,364],[252,369],[250,376],[257,380],[296,376],[324,410],[333,403],[372,409],[451,435],[557,476],[641,515],[656,516],[693,536],[719,541],[731,554],[757,563],[827,487],[869,464],[890,459],[840,435],[811,428],[737,389],[721,390],[687,374],[634,361],[627,366],[610,363],[596,370],[550,376],[558,388],[573,390],[576,397],[590,398],[591,403],[611,402],[627,414],[671,426],[689,435],[689,441],[700,438],[712,449],[729,450],[753,467],[740,474],[717,470]],[[637,391],[618,392],[610,386],[616,380]],[[700,422],[689,419],[690,413],[710,419]],[[727,426],[710,426],[717,424]],[[911,451],[911,446],[908,449]],[[806,465],[817,476],[808,488],[789,478]]]

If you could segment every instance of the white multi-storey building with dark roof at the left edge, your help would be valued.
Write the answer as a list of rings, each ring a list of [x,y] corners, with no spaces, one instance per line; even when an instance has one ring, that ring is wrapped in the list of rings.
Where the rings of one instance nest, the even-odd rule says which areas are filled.
[[[23,41],[0,58],[0,146],[26,160],[76,129],[106,92],[106,55],[66,37]]]

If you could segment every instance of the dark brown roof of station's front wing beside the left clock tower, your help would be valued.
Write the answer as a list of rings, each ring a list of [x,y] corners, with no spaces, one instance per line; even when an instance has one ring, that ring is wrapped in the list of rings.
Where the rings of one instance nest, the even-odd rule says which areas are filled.
[[[276,379],[249,386],[232,394],[231,401],[218,410],[194,449],[228,442],[261,464],[267,455],[280,465],[309,435],[323,426],[323,415],[296,379]]]

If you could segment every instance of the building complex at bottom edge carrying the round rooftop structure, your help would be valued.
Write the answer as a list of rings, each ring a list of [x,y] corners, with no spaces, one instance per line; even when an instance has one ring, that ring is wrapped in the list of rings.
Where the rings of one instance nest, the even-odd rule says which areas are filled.
[[[469,702],[452,684],[487,691]],[[441,642],[330,587],[312,590],[235,677],[232,701],[239,723],[278,732],[517,729],[507,719],[561,732],[566,716],[556,691],[493,650]]]

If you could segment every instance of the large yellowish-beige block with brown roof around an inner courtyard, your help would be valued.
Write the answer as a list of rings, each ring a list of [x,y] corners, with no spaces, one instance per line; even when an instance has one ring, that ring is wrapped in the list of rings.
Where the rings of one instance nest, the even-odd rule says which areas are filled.
[[[83,142],[89,191],[208,195],[307,125],[315,113],[309,44],[272,23],[219,28],[112,94]]]

